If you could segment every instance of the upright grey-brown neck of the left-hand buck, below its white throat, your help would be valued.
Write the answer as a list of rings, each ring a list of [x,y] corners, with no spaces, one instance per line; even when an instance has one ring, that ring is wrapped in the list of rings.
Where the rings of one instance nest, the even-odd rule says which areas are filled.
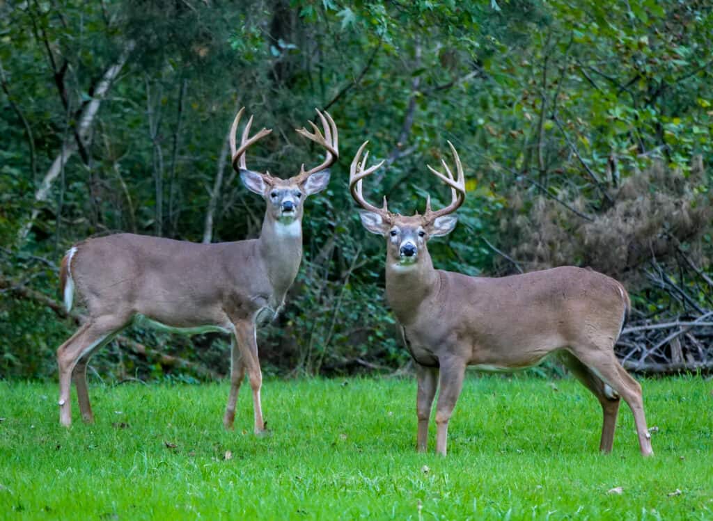
[[[302,261],[302,220],[280,222],[265,215],[260,232],[260,254],[278,305],[297,277]]]

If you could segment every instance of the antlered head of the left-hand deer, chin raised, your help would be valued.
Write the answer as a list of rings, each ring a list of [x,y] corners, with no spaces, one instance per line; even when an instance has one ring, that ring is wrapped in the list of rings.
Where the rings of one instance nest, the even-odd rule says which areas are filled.
[[[267,170],[265,172],[256,172],[255,170],[247,169],[245,161],[247,148],[260,138],[270,134],[272,130],[263,128],[260,132],[252,136],[252,138],[249,138],[250,126],[252,125],[252,116],[250,116],[250,120],[248,120],[247,125],[245,125],[245,130],[242,131],[240,148],[237,148],[235,145],[235,135],[243,110],[245,110],[245,108],[241,108],[235,116],[230,130],[232,167],[240,174],[240,179],[248,190],[255,192],[257,195],[262,195],[262,198],[265,199],[267,203],[267,211],[265,212],[266,218],[275,220],[276,222],[282,222],[283,224],[290,224],[296,220],[302,220],[302,203],[308,195],[321,192],[327,187],[329,184],[329,167],[339,158],[337,125],[334,124],[334,120],[329,113],[324,112],[323,114],[317,110],[317,115],[319,115],[319,119],[322,121],[324,134],[312,121],[310,121],[309,124],[312,125],[314,129],[313,133],[310,133],[305,128],[297,129],[297,133],[327,149],[324,162],[307,171],[304,170],[304,165],[302,165],[299,174],[289,179],[280,179],[279,177],[270,175],[270,172],[267,172]]]

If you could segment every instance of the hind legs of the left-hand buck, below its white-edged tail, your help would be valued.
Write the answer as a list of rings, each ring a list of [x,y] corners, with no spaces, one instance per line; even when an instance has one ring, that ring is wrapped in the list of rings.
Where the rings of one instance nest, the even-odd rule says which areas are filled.
[[[70,386],[72,383],[72,373],[78,361],[80,361],[83,356],[91,354],[92,351],[105,344],[107,339],[111,339],[111,336],[116,334],[124,325],[125,321],[118,321],[112,316],[93,319],[81,326],[75,334],[57,349],[57,365],[59,367],[59,422],[62,425],[68,427],[72,423]],[[86,392],[85,371],[86,368],[83,368],[81,383],[78,386],[78,396],[80,401],[86,400],[86,406],[88,406],[89,398]],[[76,382],[77,379],[75,379],[75,383]]]

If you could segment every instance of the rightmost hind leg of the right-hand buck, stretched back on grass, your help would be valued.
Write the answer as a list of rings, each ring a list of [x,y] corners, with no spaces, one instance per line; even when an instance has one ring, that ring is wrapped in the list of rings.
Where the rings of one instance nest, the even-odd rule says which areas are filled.
[[[639,447],[644,456],[653,455],[651,448],[651,435],[646,427],[646,417],[644,414],[644,400],[642,398],[641,386],[630,376],[621,366],[614,350],[588,349],[583,352],[575,352],[580,361],[588,366],[590,371],[595,373],[605,383],[608,383],[627,403],[634,415],[636,433],[639,438]]]

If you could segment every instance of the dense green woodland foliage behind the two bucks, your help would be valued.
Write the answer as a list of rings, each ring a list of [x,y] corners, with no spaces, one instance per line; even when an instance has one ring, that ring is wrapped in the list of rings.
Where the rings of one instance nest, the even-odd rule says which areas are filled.
[[[341,136],[329,190],[307,204],[289,306],[262,332],[275,371],[406,362],[384,246],[346,190],[366,139],[386,159],[366,189],[404,213],[426,192],[447,197],[425,165],[446,140],[461,153],[468,197],[431,245],[437,267],[590,265],[653,321],[713,305],[707,1],[29,0],[0,13],[4,376],[53,371],[76,324],[42,297],[56,298],[58,260],[79,239],[255,237],[263,203],[225,160],[240,105],[275,129],[251,161],[277,175],[317,162],[293,130],[314,107]],[[128,336],[133,349],[98,356],[100,373],[169,371],[143,346],[225,371],[219,336]]]

